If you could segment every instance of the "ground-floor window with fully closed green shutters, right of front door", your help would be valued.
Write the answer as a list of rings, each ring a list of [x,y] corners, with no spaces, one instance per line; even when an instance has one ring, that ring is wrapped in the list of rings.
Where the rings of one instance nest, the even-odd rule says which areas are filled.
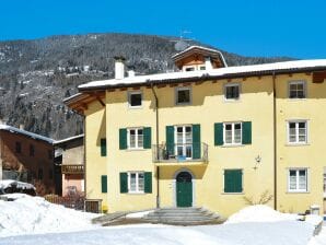
[[[242,192],[242,170],[224,170],[224,192]]]

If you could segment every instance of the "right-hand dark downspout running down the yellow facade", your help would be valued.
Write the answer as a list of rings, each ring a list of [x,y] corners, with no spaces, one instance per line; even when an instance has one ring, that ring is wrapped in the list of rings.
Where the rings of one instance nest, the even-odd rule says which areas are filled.
[[[277,210],[277,118],[276,118],[276,73],[272,72],[272,120],[273,120],[273,209]]]

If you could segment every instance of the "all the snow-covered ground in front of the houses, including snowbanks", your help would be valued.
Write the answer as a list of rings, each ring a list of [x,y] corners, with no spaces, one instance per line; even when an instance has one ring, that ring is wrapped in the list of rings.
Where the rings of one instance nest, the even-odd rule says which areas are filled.
[[[39,197],[11,195],[0,200],[0,244],[5,245],[322,245],[326,228],[313,237],[319,219],[296,221],[265,206],[253,206],[232,215],[222,225],[173,226],[135,224],[100,228],[91,224],[96,214],[51,205]]]

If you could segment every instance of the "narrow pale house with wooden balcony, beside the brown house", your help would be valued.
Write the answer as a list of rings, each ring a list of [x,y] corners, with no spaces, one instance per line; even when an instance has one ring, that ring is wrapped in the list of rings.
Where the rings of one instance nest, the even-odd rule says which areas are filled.
[[[54,145],[56,159],[60,159],[62,196],[83,196],[84,135],[58,140],[54,143]]]

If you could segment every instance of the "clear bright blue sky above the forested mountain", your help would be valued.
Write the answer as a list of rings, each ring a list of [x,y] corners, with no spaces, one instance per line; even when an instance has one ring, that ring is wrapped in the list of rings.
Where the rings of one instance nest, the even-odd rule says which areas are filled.
[[[240,55],[326,58],[325,0],[0,0],[0,40],[186,30]]]

